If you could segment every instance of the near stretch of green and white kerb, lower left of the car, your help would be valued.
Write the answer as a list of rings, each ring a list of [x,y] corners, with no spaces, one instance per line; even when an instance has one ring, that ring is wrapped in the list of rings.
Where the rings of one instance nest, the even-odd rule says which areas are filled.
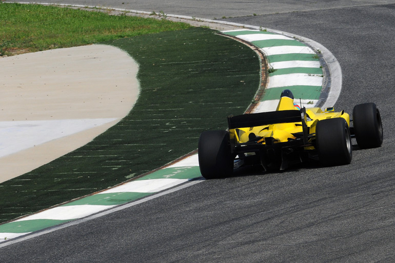
[[[122,185],[0,225],[0,242],[83,218],[200,178],[198,156]]]

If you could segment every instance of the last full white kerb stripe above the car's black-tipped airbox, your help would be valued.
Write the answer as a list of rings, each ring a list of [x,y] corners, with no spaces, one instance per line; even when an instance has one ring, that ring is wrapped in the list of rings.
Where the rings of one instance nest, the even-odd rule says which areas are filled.
[[[269,78],[267,88],[278,88],[287,86],[322,86],[323,77],[309,75],[305,73],[292,73],[284,75],[275,75]]]

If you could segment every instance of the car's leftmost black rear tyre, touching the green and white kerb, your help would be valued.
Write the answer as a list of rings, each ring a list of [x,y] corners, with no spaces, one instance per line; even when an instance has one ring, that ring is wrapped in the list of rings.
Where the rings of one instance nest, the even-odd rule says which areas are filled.
[[[206,179],[221,178],[232,174],[233,159],[229,132],[204,131],[198,147],[200,172]]]

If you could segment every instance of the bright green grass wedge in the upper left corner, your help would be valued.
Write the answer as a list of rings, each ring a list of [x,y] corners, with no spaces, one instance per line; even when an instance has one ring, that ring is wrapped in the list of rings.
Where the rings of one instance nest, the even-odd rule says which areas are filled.
[[[190,28],[166,19],[0,2],[0,56]]]

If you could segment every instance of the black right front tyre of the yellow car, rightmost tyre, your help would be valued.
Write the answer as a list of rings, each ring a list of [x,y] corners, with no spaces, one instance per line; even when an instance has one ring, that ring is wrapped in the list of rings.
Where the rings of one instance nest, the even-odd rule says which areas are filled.
[[[380,111],[374,103],[359,104],[352,110],[352,122],[360,148],[376,148],[383,143]]]

